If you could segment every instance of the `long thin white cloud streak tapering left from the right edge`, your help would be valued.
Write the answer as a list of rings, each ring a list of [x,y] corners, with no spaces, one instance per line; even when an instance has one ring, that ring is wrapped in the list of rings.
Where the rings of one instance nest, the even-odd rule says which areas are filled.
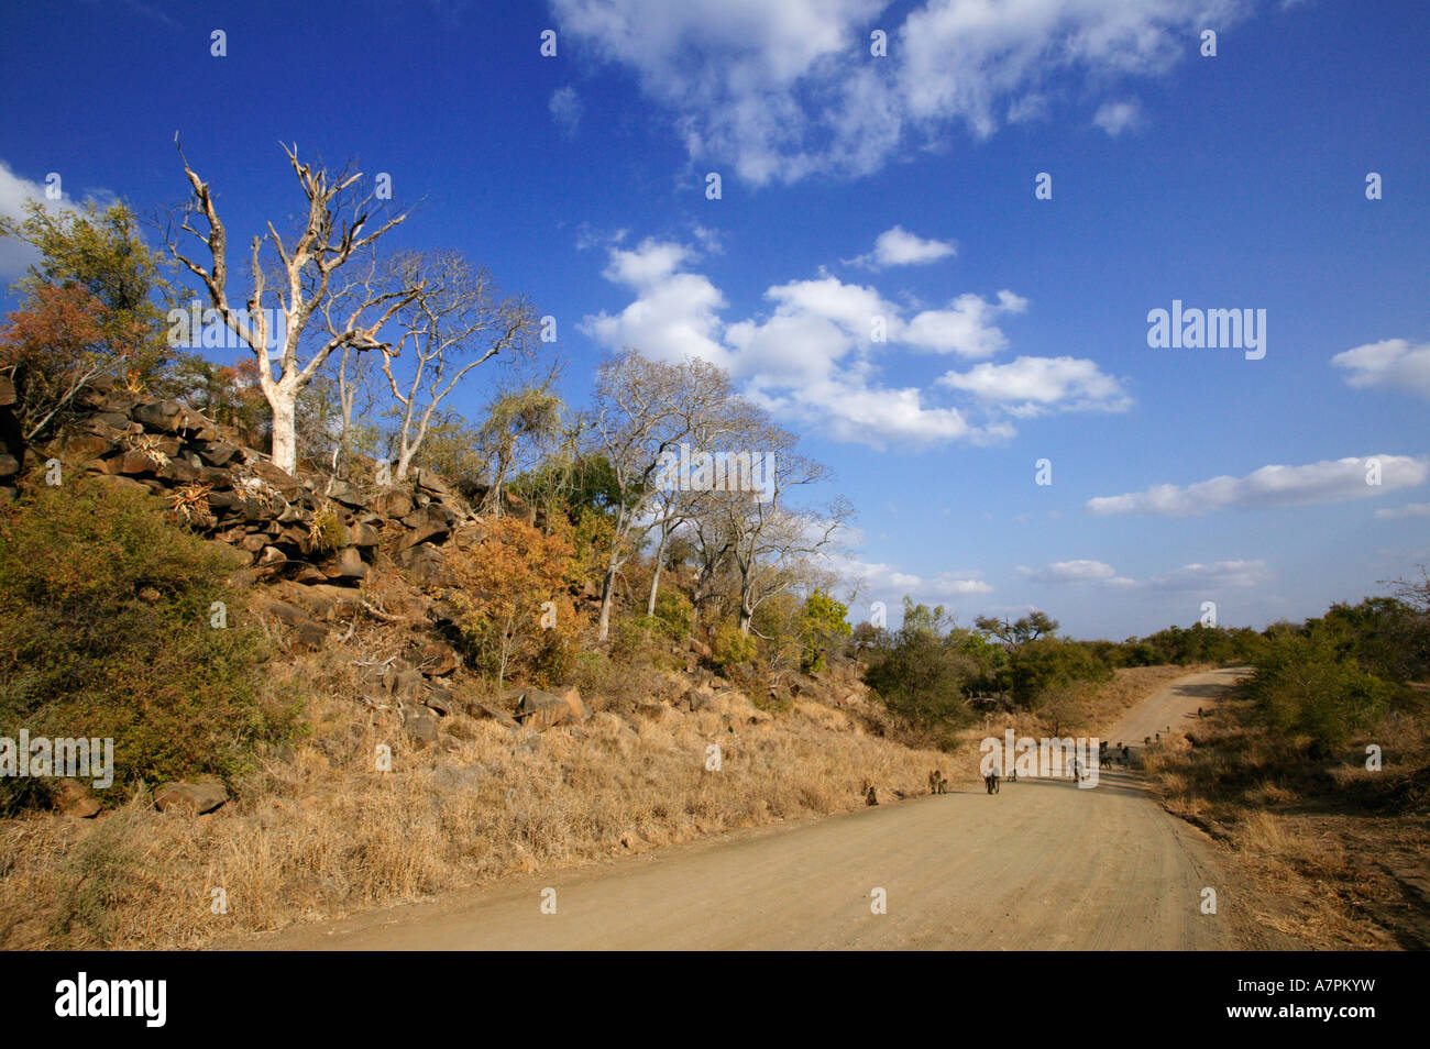
[[[1367,484],[1370,460],[1380,462],[1380,484]],[[1143,492],[1090,499],[1097,514],[1157,513],[1191,517],[1228,506],[1313,506],[1369,499],[1430,480],[1430,459],[1413,456],[1366,456],[1336,459],[1307,466],[1263,466],[1246,477],[1213,477],[1187,487],[1155,484]]]

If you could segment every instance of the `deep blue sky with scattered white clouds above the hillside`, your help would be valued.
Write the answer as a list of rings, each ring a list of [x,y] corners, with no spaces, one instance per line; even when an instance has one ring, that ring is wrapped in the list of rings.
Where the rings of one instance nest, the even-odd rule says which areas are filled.
[[[393,246],[556,317],[573,404],[606,349],[728,366],[858,509],[854,617],[1261,626],[1430,562],[1427,53],[1389,0],[9,6],[0,209],[182,202],[177,130],[246,243],[280,140],[356,159]],[[1266,356],[1150,347],[1173,300]]]

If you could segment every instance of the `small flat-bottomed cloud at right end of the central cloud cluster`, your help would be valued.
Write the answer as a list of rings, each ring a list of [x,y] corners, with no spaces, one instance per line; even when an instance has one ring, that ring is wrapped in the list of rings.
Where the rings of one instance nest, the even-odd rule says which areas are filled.
[[[970,372],[950,372],[940,386],[975,393],[984,400],[1008,403],[1015,416],[1060,410],[1123,412],[1133,400],[1123,384],[1095,362],[1075,357],[1018,357],[1008,364],[978,364]]]

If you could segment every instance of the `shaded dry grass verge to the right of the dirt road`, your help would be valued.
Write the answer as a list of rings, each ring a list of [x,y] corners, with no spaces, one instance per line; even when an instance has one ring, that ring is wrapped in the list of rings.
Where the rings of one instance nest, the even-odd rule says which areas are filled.
[[[1256,922],[1321,950],[1430,948],[1423,719],[1396,715],[1327,763],[1256,725],[1244,700],[1218,705],[1198,736],[1147,770],[1168,812],[1227,849]],[[1386,755],[1379,772],[1370,742]]]

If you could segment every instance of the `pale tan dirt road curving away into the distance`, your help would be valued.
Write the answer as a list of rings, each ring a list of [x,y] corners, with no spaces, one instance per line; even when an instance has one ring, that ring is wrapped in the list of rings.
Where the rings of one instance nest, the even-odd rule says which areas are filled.
[[[1236,679],[1177,679],[1107,732],[1185,729]],[[542,913],[542,890],[556,913]],[[1217,915],[1203,915],[1203,890]],[[874,913],[877,892],[887,913]],[[267,949],[1236,949],[1208,842],[1134,772],[1005,783],[306,926]],[[1238,923],[1240,925],[1240,923]]]

